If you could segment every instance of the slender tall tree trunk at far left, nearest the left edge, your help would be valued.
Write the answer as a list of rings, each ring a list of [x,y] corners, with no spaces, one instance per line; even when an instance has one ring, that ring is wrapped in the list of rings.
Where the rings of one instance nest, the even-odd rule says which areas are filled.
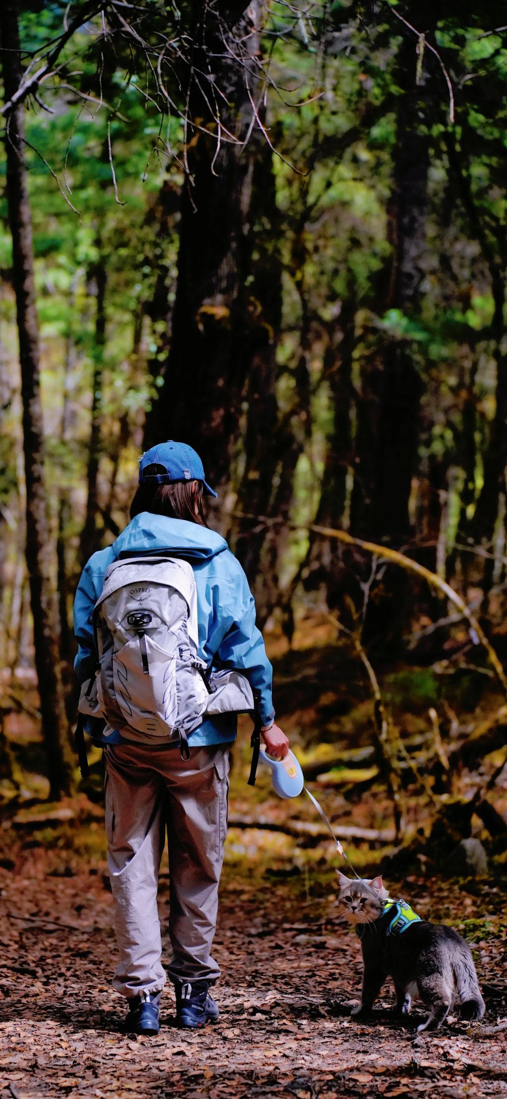
[[[4,0],[0,44],[5,99],[21,78],[16,0]],[[33,615],[35,667],[50,796],[70,788],[70,745],[59,665],[59,623],[52,585],[54,546],[44,480],[44,432],[40,388],[38,322],[33,270],[32,219],[24,146],[23,107],[11,114],[5,133],[7,201],[12,234],[13,285],[20,342],[21,395],[26,479],[26,565]]]

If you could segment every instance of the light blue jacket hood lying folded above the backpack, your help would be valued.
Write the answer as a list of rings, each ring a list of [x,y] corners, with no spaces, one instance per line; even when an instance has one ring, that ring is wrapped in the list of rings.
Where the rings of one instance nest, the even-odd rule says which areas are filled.
[[[113,542],[115,557],[138,553],[171,553],[190,560],[210,560],[227,550],[227,543],[216,531],[184,519],[168,519],[142,511]]]

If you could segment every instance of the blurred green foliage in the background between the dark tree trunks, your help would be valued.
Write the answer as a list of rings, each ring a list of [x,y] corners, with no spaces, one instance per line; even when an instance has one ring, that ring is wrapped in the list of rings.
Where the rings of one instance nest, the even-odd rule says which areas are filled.
[[[166,31],[182,33],[191,8],[182,4],[177,12],[150,5],[151,41],[164,20]],[[361,401],[374,387],[379,364],[403,351],[421,386],[414,541],[435,543],[441,523],[451,557],[481,495],[496,408],[502,337],[493,278],[499,270],[503,279],[506,268],[507,38],[489,33],[505,21],[496,0],[487,11],[457,2],[444,11],[431,8],[428,26],[420,5],[404,0],[391,8],[340,0],[326,12],[313,11],[316,40],[324,34],[319,53],[303,15],[291,22],[285,4],[270,5],[260,56],[270,56],[267,125],[275,148],[279,220],[270,229],[268,219],[266,224],[259,219],[258,233],[264,251],[280,252],[283,265],[277,401],[280,422],[290,421],[301,440],[291,520],[304,524],[318,514],[329,452],[336,447],[337,402],[347,400],[343,422],[350,437],[331,473],[347,474],[345,510],[333,520],[349,521],[363,457],[357,453]],[[396,13],[424,30],[427,43],[439,51],[453,86],[453,126],[440,63],[428,45],[418,63],[417,40]],[[36,12],[24,5],[23,49],[41,48],[59,32],[60,21],[58,5]],[[70,495],[68,536],[75,547],[86,497],[94,366],[101,365],[100,499],[117,525],[126,518],[144,417],[164,385],[184,135],[178,80],[170,87],[176,109],[162,120],[162,141],[160,102],[146,98],[154,91],[149,75],[132,62],[123,40],[113,48],[99,20],[75,36],[61,60],[61,70],[44,88],[54,113],[33,101],[25,113],[48,482],[54,512],[59,491]],[[420,260],[420,280],[412,299],[399,302],[388,287],[399,262],[393,206],[407,104],[415,104],[428,173],[425,252],[414,259]],[[3,198],[1,320],[13,363],[5,215]],[[269,231],[278,235],[266,242]],[[104,346],[97,331],[100,270],[105,274]],[[352,381],[346,397],[337,398],[345,346],[351,346]],[[8,507],[18,484],[14,421],[7,424],[0,455],[0,492]],[[240,469],[239,446],[233,491]],[[435,525],[435,504],[428,501],[439,493],[441,500],[449,493],[449,506]],[[383,536],[382,530],[376,533]],[[282,588],[308,551],[303,530],[290,534],[280,567]]]

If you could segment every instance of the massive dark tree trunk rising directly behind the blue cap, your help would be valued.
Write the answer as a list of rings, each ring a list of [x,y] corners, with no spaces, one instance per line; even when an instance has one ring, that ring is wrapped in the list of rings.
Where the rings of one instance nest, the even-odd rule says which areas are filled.
[[[260,7],[250,4],[235,26],[235,36],[252,63],[259,51]],[[200,5],[198,23],[199,10]],[[194,41],[198,31],[195,26]],[[230,36],[228,44],[237,51]],[[272,187],[271,152],[257,123],[243,144],[252,121],[245,68],[224,54],[224,43],[218,37],[214,42],[210,29],[207,55],[215,86],[225,96],[225,100],[216,97],[223,134],[218,147],[216,133],[193,126],[209,118],[209,108],[192,81],[171,341],[164,382],[147,419],[146,445],[173,435],[194,446],[202,454],[206,478],[222,489],[222,510],[236,466],[247,382],[250,379],[252,406],[266,380],[271,390],[279,289],[272,288],[271,275],[270,288],[256,278],[252,257],[262,189]],[[237,143],[227,138],[226,130]],[[271,425],[271,397],[268,403]]]

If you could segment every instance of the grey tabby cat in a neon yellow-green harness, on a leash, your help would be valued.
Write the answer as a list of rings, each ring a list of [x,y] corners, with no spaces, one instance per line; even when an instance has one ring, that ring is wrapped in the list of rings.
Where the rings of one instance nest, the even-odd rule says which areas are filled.
[[[367,1014],[386,977],[392,977],[397,1014],[407,1014],[417,993],[429,1008],[417,1031],[438,1030],[454,1004],[463,1019],[482,1019],[485,1007],[470,947],[444,924],[420,920],[405,901],[393,900],[382,878],[350,880],[338,874],[338,903],[361,940],[364,974],[361,1003]]]

